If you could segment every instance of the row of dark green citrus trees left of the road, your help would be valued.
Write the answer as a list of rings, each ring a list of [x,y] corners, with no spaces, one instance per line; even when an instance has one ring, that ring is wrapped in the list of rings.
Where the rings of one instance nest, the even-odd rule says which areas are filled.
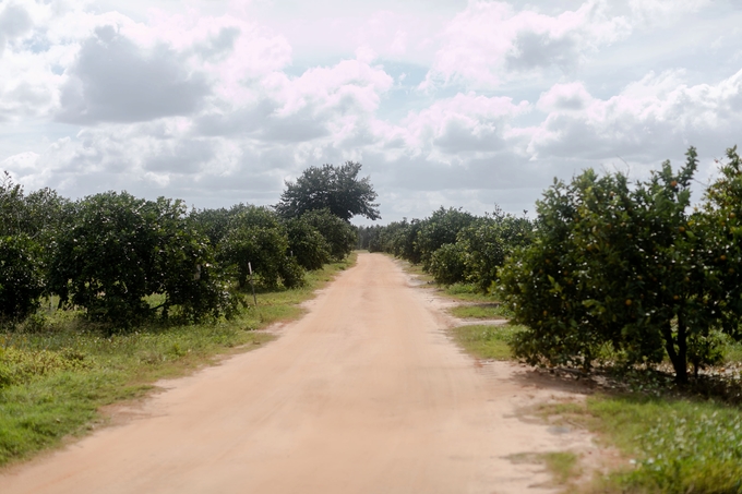
[[[179,200],[125,192],[70,201],[49,189],[26,194],[5,174],[0,323],[22,321],[52,296],[117,327],[229,316],[250,268],[266,288],[298,287],[304,270],[345,257],[356,239],[325,207],[189,210]]]

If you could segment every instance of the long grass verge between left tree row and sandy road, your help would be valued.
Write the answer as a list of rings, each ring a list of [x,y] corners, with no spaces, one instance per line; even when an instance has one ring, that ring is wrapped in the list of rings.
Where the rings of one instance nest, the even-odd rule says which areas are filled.
[[[109,336],[77,314],[59,311],[0,333],[0,466],[104,424],[100,407],[142,397],[159,378],[259,348],[273,336],[255,329],[300,316],[298,304],[355,260],[309,273],[301,289],[261,292],[258,306],[232,321],[152,325]]]

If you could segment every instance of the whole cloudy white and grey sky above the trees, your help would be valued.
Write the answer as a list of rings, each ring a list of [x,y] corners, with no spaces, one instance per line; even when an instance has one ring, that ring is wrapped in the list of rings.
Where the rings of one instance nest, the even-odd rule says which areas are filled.
[[[0,170],[26,191],[271,205],[352,160],[381,224],[532,215],[554,178],[689,146],[698,200],[741,131],[739,0],[0,0]]]

